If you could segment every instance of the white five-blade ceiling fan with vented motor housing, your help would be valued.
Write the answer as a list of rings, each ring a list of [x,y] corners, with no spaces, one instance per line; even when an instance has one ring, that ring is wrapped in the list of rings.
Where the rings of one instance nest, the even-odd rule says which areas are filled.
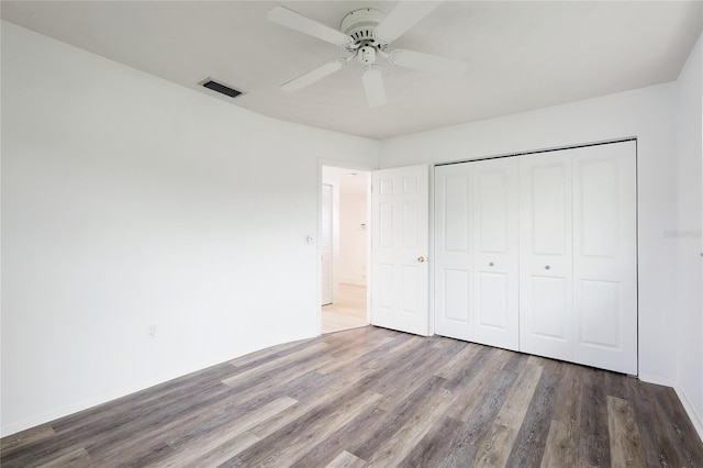
[[[422,52],[398,48],[388,52],[390,44],[439,5],[439,2],[401,1],[388,14],[364,8],[348,13],[342,20],[341,31],[332,29],[284,7],[269,10],[267,19],[322,41],[344,47],[350,54],[334,59],[281,86],[293,92],[345,68],[355,57],[364,65],[361,80],[369,107],[386,103],[386,89],[381,69],[375,64],[380,55],[393,65],[448,76],[461,75],[466,62]]]

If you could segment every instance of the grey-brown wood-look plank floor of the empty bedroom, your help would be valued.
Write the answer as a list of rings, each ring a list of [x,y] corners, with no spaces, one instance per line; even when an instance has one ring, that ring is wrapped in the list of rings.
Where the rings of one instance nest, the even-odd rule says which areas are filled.
[[[1,441],[3,468],[702,467],[672,389],[366,326],[241,357]]]

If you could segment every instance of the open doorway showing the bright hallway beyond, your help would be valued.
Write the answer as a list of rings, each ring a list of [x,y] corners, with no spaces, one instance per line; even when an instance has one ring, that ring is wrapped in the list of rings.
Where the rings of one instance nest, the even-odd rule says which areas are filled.
[[[370,172],[322,166],[320,291],[322,333],[369,324]]]

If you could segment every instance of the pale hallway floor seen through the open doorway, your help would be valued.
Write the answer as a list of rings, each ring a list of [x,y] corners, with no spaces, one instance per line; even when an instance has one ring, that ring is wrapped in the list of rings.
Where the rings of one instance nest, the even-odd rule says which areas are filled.
[[[366,326],[366,287],[357,285],[339,285],[339,298],[322,308],[322,333]]]

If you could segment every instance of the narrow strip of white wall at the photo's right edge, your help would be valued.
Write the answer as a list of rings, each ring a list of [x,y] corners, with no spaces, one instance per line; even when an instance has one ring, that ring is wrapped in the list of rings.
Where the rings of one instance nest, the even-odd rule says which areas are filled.
[[[703,36],[677,81],[677,391],[703,437]]]

